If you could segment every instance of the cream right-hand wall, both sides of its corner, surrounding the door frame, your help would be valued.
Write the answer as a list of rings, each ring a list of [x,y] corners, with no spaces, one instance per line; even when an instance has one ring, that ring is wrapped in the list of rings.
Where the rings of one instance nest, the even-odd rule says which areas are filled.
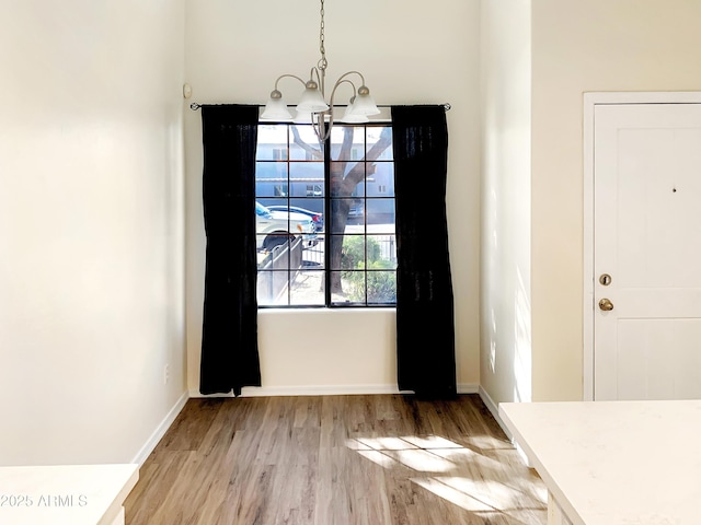
[[[481,383],[495,402],[528,398],[528,348],[532,400],[583,398],[583,94],[701,89],[698,20],[697,0],[482,2]]]

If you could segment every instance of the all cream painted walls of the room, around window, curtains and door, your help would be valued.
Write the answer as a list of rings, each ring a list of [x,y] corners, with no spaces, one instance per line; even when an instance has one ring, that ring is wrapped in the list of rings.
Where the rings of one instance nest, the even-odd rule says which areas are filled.
[[[327,4],[330,75],[364,71],[384,104],[452,104],[459,383],[482,382],[496,400],[528,392],[513,364],[524,370],[516,349],[528,340],[519,313],[528,296],[519,290],[529,290],[522,242],[530,236],[531,397],[581,399],[582,94],[699,90],[701,2],[530,1],[530,136],[528,73],[516,58],[527,49],[525,19],[516,18],[524,3],[509,0],[506,12],[482,2],[482,190],[478,0]],[[131,460],[185,388],[198,386],[202,144],[199,114],[186,109],[183,166],[181,85],[186,79],[200,103],[264,102],[278,73],[306,74],[315,63],[317,5],[301,15],[307,7],[283,0],[10,0],[3,8],[0,464]],[[276,15],[267,21],[268,13]],[[393,345],[391,311],[261,316],[268,387],[393,385]]]

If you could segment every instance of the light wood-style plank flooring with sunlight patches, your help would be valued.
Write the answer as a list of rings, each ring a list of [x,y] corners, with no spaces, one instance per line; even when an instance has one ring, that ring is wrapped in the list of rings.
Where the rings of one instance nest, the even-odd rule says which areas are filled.
[[[127,525],[531,525],[547,490],[476,395],[191,399]]]

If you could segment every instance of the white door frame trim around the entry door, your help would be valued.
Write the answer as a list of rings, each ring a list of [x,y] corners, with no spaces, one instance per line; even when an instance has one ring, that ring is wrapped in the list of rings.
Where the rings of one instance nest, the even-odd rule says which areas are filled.
[[[698,91],[586,92],[584,93],[584,400],[594,400],[594,112],[597,105],[699,104]]]

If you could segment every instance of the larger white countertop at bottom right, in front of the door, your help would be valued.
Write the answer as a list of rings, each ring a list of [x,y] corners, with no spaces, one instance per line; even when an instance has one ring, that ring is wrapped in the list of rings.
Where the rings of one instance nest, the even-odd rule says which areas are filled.
[[[504,402],[574,525],[701,524],[701,400]]]

